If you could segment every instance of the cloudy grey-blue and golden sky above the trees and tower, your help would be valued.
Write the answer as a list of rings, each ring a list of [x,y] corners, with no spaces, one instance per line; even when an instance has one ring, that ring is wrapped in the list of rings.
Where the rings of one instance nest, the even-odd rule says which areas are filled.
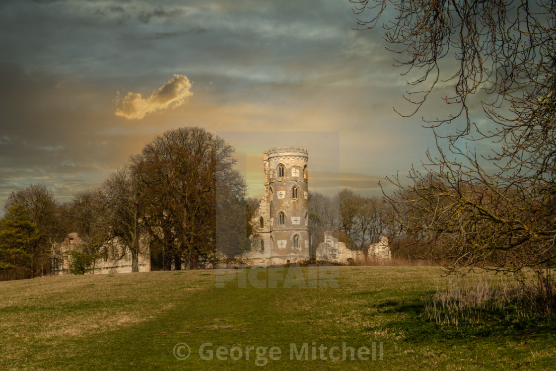
[[[234,145],[251,195],[262,151],[290,145],[315,190],[376,192],[434,140],[356,22],[347,0],[3,0],[0,203],[32,183],[70,200],[181,126]]]

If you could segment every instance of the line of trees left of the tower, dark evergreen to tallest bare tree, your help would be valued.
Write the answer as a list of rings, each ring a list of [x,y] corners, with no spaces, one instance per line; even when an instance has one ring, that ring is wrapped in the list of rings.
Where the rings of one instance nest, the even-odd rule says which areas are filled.
[[[100,187],[59,203],[44,185],[12,192],[0,220],[0,275],[46,273],[54,246],[76,232],[82,251],[107,256],[117,243],[132,271],[144,246],[153,269],[196,269],[250,248],[256,202],[234,169],[234,148],[202,128],[170,130],[112,172]]]

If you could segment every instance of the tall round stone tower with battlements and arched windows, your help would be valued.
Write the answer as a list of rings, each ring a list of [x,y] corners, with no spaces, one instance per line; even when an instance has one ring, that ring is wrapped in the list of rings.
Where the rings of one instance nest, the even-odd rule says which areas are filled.
[[[309,152],[300,147],[277,147],[264,153],[265,196],[255,220],[261,238],[253,258],[269,264],[310,258],[308,159]]]

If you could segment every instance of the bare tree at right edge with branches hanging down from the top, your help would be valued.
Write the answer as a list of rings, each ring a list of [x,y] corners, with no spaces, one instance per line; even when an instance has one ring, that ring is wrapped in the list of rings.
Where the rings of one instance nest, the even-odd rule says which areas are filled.
[[[413,236],[450,270],[479,265],[540,273],[553,265],[554,2],[350,1],[367,17],[359,22],[364,28],[393,7],[385,39],[410,78],[413,90],[404,97],[415,110],[409,115],[439,96],[449,111],[424,118],[438,154],[427,153],[424,170],[410,172],[409,186],[393,179],[400,191],[389,200],[399,236]],[[477,107],[484,115],[475,123]],[[483,142],[492,152],[478,156],[474,147]]]

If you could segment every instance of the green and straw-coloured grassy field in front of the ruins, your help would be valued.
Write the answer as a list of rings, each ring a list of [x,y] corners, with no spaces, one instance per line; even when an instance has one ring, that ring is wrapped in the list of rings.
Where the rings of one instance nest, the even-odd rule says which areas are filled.
[[[281,280],[271,288],[262,273],[264,288],[249,280],[242,288],[245,270],[239,281],[219,284],[224,288],[215,270],[0,282],[0,369],[556,368],[551,320],[457,328],[424,320],[421,298],[447,280],[439,268],[346,266],[337,273],[318,284],[335,281],[338,288],[305,289],[284,288]],[[304,274],[297,284],[314,286],[307,268]],[[180,343],[191,349],[187,359],[178,359],[187,354]],[[203,343],[212,343],[202,353],[210,358],[212,350],[212,360],[201,358]],[[301,360],[295,353],[290,359],[291,343]],[[342,359],[343,343],[354,348],[354,360],[350,350]],[[236,359],[241,349],[241,358],[217,359],[219,347]],[[332,347],[340,359],[330,359]],[[359,359],[358,349],[369,359]]]

